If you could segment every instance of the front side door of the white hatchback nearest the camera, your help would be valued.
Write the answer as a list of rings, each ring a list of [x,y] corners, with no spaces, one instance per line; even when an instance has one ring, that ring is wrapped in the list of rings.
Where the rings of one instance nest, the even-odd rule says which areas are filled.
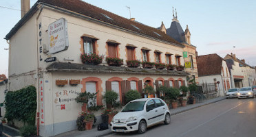
[[[153,99],[147,102],[145,117],[147,119],[147,125],[151,125],[156,121],[156,103]]]

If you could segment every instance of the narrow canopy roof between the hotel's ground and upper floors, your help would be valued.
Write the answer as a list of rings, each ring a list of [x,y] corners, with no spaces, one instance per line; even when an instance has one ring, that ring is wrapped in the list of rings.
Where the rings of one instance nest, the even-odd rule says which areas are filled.
[[[54,62],[47,66],[50,72],[85,72],[85,73],[120,73],[120,74],[139,74],[139,75],[170,75],[186,76],[185,71],[167,71],[158,69],[128,68],[124,66],[104,66],[91,64],[76,64],[65,62]]]

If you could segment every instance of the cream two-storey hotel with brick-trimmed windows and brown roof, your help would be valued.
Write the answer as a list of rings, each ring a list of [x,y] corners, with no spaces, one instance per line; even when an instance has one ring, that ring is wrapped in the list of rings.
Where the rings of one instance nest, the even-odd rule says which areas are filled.
[[[10,43],[9,90],[36,87],[40,136],[77,129],[76,119],[85,105],[74,99],[85,90],[98,91],[96,104],[102,105],[106,90],[117,92],[123,103],[130,89],[145,97],[142,88],[147,84],[155,88],[187,84],[186,71],[127,67],[127,60],[169,59],[184,64],[182,43],[159,29],[80,0],[37,1],[6,40]],[[109,66],[104,59],[98,65],[83,64],[81,54],[92,53],[124,62],[122,66]],[[160,93],[154,97],[160,97]],[[101,112],[95,114],[99,117]]]

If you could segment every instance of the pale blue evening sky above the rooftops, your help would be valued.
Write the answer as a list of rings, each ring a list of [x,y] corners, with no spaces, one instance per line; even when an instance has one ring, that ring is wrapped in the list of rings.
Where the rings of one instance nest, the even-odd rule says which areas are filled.
[[[255,0],[83,0],[119,16],[136,18],[151,27],[171,25],[172,7],[177,9],[183,29],[189,25],[191,44],[198,55],[217,53],[222,58],[235,53],[250,66],[256,66]],[[36,0],[30,0],[34,5]],[[21,19],[20,0],[0,1],[0,74],[8,75],[8,43],[3,38]],[[25,49],[24,49],[25,50]]]

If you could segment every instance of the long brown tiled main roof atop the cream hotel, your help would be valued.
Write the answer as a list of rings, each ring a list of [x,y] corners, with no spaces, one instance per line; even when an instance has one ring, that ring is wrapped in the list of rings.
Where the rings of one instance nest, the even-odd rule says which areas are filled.
[[[69,12],[69,14],[76,14],[77,16],[83,15],[83,17],[87,17],[87,18],[89,17],[88,18],[89,20],[99,21],[100,23],[105,23],[105,25],[111,25],[114,27],[118,27],[120,29],[124,29],[126,31],[128,30],[129,32],[140,34],[142,36],[147,36],[157,40],[163,40],[164,42],[171,42],[178,47],[184,47],[180,42],[171,38],[167,34],[164,34],[164,32],[160,31],[159,29],[156,29],[154,27],[149,27],[147,25],[143,25],[142,23],[138,23],[136,21],[130,21],[127,18],[118,16],[114,13],[108,12],[107,10],[103,10],[101,8],[98,8],[94,5],[91,5],[81,0],[39,0],[37,1],[33,5],[32,9],[27,14],[25,14],[25,16],[21,18],[21,20],[17,23],[17,25],[15,25],[14,28],[12,28],[9,34],[6,35],[7,40],[9,40],[26,21],[28,21],[28,19],[32,16],[32,14],[34,14],[36,10],[38,10],[36,6],[39,3],[50,6],[51,8],[55,8],[57,10]]]

